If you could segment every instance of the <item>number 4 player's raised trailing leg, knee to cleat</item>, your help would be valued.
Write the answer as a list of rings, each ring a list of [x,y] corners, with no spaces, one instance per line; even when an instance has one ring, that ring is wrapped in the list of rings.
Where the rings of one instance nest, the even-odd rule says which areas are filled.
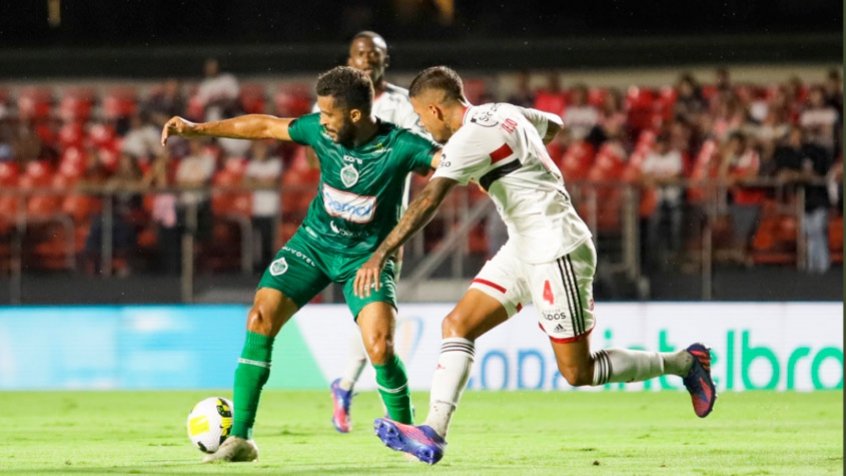
[[[716,392],[711,380],[710,351],[693,344],[677,352],[646,352],[603,349],[590,352],[590,336],[571,342],[552,343],[558,370],[570,385],[604,385],[609,382],[641,382],[660,375],[678,375],[693,399],[697,416],[705,417],[714,406]]]

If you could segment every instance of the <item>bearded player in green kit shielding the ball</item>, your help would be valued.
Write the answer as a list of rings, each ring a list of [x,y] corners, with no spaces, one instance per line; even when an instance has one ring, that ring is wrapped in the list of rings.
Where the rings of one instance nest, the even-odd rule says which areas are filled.
[[[412,421],[408,378],[393,349],[395,260],[388,260],[380,289],[370,296],[356,296],[352,286],[356,270],[398,222],[405,176],[436,168],[440,149],[372,116],[373,85],[365,72],[333,68],[318,77],[316,92],[319,114],[249,114],[200,124],[174,117],[162,130],[162,145],[173,135],[293,141],[311,146],[320,162],[317,196],[306,218],[259,282],[235,371],[232,431],[206,462],[258,458],[252,432],[259,396],[270,375],[273,340],[330,282],[344,287],[388,414],[397,421]]]

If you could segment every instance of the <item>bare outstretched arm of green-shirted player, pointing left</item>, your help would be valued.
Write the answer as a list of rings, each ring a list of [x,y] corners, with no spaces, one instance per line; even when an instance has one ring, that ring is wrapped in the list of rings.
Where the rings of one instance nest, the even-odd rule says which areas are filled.
[[[174,116],[162,128],[162,145],[167,144],[170,136],[291,140],[288,126],[293,121],[289,117],[247,114],[222,121],[196,123]]]

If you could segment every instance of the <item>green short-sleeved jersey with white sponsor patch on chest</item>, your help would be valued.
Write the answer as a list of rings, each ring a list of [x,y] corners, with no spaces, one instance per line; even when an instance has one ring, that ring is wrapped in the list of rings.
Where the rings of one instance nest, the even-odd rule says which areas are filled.
[[[405,178],[428,170],[437,144],[389,122],[370,141],[347,148],[320,125],[319,114],[292,122],[288,133],[314,148],[320,162],[317,196],[302,228],[324,251],[369,255],[399,221]]]

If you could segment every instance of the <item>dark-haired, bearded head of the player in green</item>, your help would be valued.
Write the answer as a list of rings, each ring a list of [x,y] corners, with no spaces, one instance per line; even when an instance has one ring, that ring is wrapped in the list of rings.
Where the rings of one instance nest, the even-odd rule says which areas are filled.
[[[348,144],[356,127],[370,117],[373,84],[367,74],[348,66],[336,66],[317,78],[320,125],[335,142]]]

